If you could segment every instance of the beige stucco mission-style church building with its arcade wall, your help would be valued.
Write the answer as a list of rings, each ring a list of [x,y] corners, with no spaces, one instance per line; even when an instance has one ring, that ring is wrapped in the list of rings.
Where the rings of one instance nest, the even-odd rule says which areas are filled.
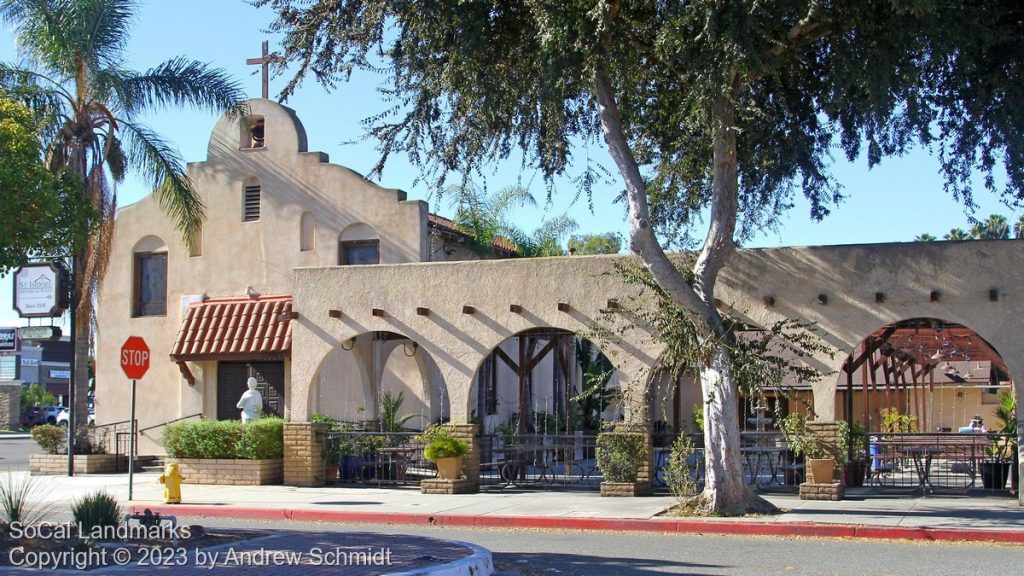
[[[450,418],[488,430],[527,403],[568,417],[579,360],[590,353],[565,335],[610,334],[596,343],[613,366],[611,385],[642,397],[656,382],[662,345],[643,326],[620,330],[630,319],[616,316],[616,302],[638,292],[609,274],[624,256],[481,261],[426,202],[310,152],[293,111],[263,98],[249,106],[249,124],[221,118],[207,158],[188,165],[207,214],[191,247],[153,195],[118,212],[99,291],[97,424],[128,418],[130,382],[117,358],[130,335],[144,338],[154,359],[139,383],[143,454],[163,452],[166,422],[238,418],[250,376],[264,411],[293,422],[316,412],[374,421],[390,390],[403,394],[411,427]],[[739,250],[716,295],[752,325],[814,323],[835,354],[808,362],[831,377],[801,394],[819,420],[844,410],[870,419],[878,407],[842,394],[845,366],[864,357],[865,341],[907,327],[969,327],[997,367],[985,381],[1012,385],[1024,369],[1021,262],[1019,241]],[[692,378],[674,385],[654,395],[671,404],[662,415],[604,416],[691,430],[698,386]],[[986,409],[980,392],[956,398],[970,412]],[[921,413],[936,406],[906,402]],[[965,423],[956,418],[939,406],[930,428],[955,429]]]

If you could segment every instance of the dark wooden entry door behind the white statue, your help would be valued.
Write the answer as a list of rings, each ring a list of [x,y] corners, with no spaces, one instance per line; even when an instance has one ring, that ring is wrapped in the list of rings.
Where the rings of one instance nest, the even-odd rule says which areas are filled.
[[[236,408],[246,381],[256,378],[256,389],[263,397],[263,414],[285,416],[284,362],[221,362],[217,365],[217,419],[238,420],[242,411]]]

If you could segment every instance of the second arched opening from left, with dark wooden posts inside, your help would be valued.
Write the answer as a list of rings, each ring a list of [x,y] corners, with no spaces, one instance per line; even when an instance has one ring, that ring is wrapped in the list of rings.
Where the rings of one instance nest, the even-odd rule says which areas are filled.
[[[620,379],[596,342],[567,330],[536,328],[499,343],[468,399],[481,485],[596,489],[597,434],[625,416]]]

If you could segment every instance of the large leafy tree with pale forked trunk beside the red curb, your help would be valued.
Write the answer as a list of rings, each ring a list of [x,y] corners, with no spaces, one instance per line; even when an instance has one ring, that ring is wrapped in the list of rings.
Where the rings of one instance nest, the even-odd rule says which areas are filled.
[[[691,312],[703,346],[702,499],[717,513],[767,507],[743,483],[732,336],[713,294],[737,242],[797,194],[825,216],[842,198],[833,152],[873,165],[923,142],[967,206],[975,169],[1005,168],[997,192],[1022,195],[1024,8],[1013,0],[256,4],[275,10],[296,66],[284,95],[310,75],[334,87],[355,69],[385,71],[393,108],[369,120],[381,163],[404,153],[442,178],[518,149],[553,177],[581,138],[603,136],[630,247]],[[664,250],[698,235],[701,213],[684,275]]]

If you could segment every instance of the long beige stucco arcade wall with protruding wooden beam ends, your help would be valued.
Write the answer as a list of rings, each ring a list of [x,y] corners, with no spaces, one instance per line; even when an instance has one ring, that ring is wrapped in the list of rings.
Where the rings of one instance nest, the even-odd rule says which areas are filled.
[[[436,361],[452,397],[452,417],[464,420],[471,406],[476,367],[503,339],[536,327],[587,334],[595,326],[612,327],[600,313],[608,298],[635,291],[607,274],[620,256],[574,256],[402,264],[360,269],[296,271],[294,293],[302,315],[293,347],[293,415],[307,412],[310,385],[323,358],[348,338],[374,330],[403,334]],[[816,323],[836,354],[817,365],[838,374],[847,355],[882,326],[911,318],[936,318],[964,324],[984,337],[1007,362],[1011,374],[1024,367],[1016,319],[1024,312],[1017,286],[1024,243],[972,241],[740,250],[723,272],[716,295],[752,321],[769,325],[782,318]],[[378,286],[373,293],[334,288],[352,283]],[[998,291],[996,301],[989,290]],[[939,301],[930,301],[938,290]],[[876,292],[885,294],[877,303]],[[818,295],[827,301],[819,303]],[[774,303],[765,303],[772,296]],[[559,312],[558,302],[571,305]],[[510,313],[510,303],[523,314]],[[477,308],[465,315],[462,306]],[[415,308],[431,308],[428,317]],[[387,312],[371,316],[371,308]],[[341,319],[328,310],[341,310]],[[642,329],[605,345],[625,381],[645,381],[645,367],[659,346]],[[814,384],[814,410],[823,420],[837,415],[837,377]],[[1018,393],[1019,394],[1019,393]],[[689,396],[689,395],[688,395]]]

